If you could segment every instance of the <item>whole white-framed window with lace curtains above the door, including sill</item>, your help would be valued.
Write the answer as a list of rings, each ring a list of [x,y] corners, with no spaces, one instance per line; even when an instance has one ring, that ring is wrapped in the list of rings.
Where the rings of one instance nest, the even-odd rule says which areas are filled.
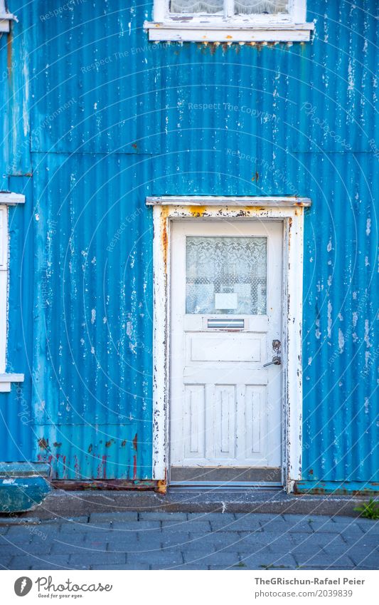
[[[154,0],[154,41],[308,41],[306,0]]]

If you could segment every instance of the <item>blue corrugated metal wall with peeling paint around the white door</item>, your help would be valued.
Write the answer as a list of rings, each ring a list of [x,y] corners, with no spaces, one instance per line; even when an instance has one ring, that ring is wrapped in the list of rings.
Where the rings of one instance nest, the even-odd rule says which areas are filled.
[[[205,46],[148,43],[151,3],[47,17],[58,1],[12,0],[1,174],[26,193],[10,212],[8,351],[26,382],[0,397],[1,459],[151,477],[146,195],[297,193],[313,201],[303,477],[379,480],[378,7],[308,5],[311,43]]]

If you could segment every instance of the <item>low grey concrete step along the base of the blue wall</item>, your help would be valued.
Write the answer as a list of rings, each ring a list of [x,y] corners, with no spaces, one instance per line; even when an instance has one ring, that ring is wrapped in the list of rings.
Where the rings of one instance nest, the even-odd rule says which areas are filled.
[[[358,517],[353,509],[365,497],[333,495],[289,495],[284,490],[195,490],[171,488],[166,495],[153,491],[114,490],[68,492],[53,490],[33,511],[18,515],[23,519],[88,516],[92,512],[264,512],[276,514],[343,514]],[[6,522],[6,516],[0,518]]]

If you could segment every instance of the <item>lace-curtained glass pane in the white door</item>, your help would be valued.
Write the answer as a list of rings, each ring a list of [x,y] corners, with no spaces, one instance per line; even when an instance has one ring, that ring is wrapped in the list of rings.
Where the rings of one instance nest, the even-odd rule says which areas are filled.
[[[186,313],[265,315],[266,237],[187,237]]]

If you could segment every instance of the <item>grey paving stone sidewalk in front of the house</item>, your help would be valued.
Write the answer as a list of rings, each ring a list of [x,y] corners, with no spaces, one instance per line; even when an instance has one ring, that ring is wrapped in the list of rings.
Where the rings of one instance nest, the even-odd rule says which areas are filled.
[[[0,519],[2,569],[379,569],[379,522],[368,519],[119,512],[21,522]]]

